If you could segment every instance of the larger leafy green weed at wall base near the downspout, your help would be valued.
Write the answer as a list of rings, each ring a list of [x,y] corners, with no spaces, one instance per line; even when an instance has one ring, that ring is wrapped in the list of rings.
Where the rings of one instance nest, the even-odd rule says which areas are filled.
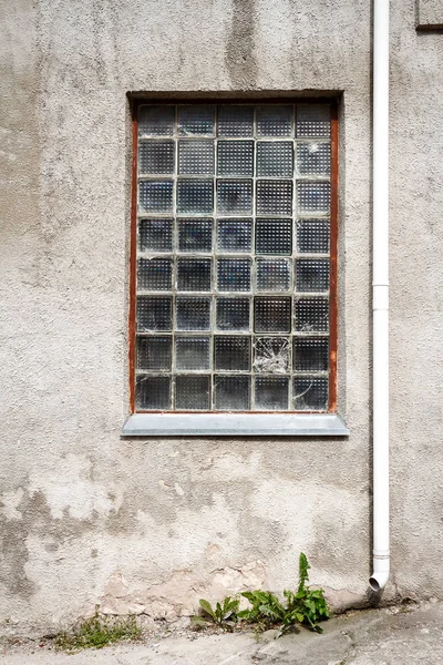
[[[298,624],[316,633],[322,633],[319,623],[329,618],[328,604],[322,589],[311,590],[308,586],[309,569],[306,554],[301,552],[297,593],[285,591],[285,601],[280,601],[269,591],[247,591],[241,595],[251,606],[239,612],[239,601],[230,596],[227,596],[223,603],[217,603],[214,608],[208,601],[200,600],[199,614],[193,617],[193,623],[196,627],[202,627],[205,622],[208,622],[224,630],[233,630],[239,622],[245,622],[255,625],[260,632],[277,627],[276,637]]]

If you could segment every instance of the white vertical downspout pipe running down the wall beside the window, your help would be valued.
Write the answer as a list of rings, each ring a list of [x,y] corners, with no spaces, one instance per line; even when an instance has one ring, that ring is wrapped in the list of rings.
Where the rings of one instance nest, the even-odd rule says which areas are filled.
[[[373,27],[373,573],[389,579],[389,0],[374,0]]]

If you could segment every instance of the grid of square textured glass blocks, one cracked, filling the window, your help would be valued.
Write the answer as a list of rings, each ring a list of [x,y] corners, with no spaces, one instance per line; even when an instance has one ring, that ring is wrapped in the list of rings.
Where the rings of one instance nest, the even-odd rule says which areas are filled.
[[[135,410],[330,410],[331,108],[140,103],[136,123]]]

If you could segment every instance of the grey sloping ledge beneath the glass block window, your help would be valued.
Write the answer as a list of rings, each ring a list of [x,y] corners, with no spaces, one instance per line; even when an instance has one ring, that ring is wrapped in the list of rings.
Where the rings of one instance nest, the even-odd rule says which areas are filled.
[[[123,437],[347,437],[336,413],[133,413]]]

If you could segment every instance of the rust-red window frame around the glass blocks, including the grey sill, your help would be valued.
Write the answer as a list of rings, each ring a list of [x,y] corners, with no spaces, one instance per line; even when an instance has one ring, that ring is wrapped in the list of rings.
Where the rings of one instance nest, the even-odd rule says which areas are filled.
[[[128,382],[130,417],[123,436],[162,434],[276,434],[347,436],[348,429],[337,413],[338,347],[338,180],[339,102],[336,98],[137,98],[131,100],[132,167],[130,234]],[[330,286],[329,286],[329,405],[328,411],[137,411],[136,374],[136,265],[137,265],[137,153],[138,108],[143,104],[328,104],[330,106]]]

